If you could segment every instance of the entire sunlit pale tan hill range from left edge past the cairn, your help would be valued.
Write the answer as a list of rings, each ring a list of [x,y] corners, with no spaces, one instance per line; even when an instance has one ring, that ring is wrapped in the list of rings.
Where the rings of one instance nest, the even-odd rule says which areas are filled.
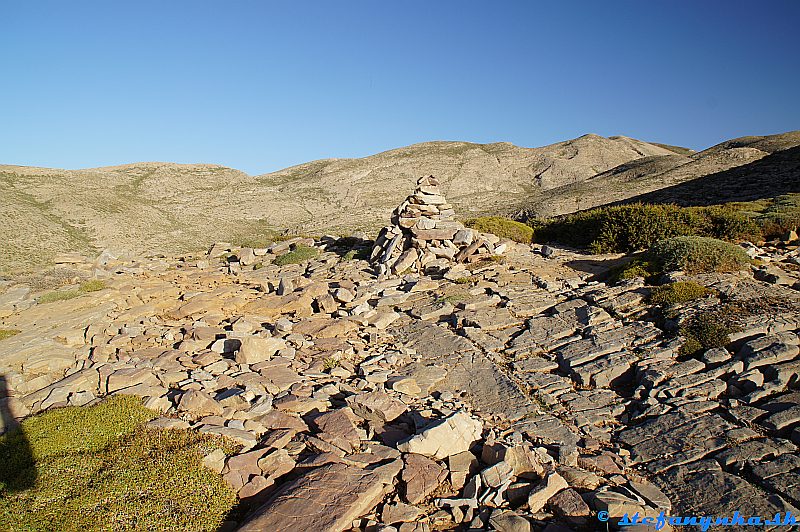
[[[137,163],[87,170],[0,166],[0,268],[29,269],[66,251],[171,253],[273,231],[375,229],[435,174],[462,216],[509,212],[541,190],[670,153],[586,135],[542,148],[430,142],[363,159],[329,159],[261,176],[216,165]]]

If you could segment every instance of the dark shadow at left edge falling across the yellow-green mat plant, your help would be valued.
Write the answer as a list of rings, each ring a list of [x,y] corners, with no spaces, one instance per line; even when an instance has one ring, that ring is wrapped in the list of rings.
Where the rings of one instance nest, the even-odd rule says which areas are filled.
[[[0,493],[32,488],[37,476],[30,442],[11,412],[11,402],[6,379],[0,375]]]

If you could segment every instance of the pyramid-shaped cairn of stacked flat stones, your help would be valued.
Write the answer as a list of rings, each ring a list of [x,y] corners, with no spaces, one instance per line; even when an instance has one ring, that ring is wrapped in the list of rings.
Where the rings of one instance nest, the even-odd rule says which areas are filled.
[[[417,188],[392,212],[370,260],[377,273],[402,274],[445,269],[453,262],[475,262],[502,253],[484,235],[454,219],[455,211],[433,176],[417,180]]]

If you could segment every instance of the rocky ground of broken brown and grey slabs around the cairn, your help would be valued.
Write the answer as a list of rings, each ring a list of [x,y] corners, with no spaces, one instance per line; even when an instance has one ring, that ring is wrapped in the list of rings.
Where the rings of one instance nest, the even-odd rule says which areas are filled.
[[[322,253],[271,264],[303,243]],[[231,529],[800,514],[791,248],[751,248],[760,269],[694,277],[715,295],[664,312],[642,280],[590,281],[603,257],[509,243],[503,262],[381,279],[344,244],[75,259],[107,288],[52,303],[6,283],[0,328],[21,332],[0,342],[0,400],[22,417],[134,394],[155,426],[237,440],[205,459],[244,501]],[[723,302],[731,343],[680,355],[678,324]]]

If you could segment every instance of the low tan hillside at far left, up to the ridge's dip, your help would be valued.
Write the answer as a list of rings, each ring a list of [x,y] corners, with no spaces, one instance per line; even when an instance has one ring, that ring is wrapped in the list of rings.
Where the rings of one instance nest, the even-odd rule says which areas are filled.
[[[246,174],[214,165],[141,163],[89,170],[0,166],[0,268],[64,251],[181,251],[238,224],[229,197]],[[219,220],[219,223],[216,222]]]

